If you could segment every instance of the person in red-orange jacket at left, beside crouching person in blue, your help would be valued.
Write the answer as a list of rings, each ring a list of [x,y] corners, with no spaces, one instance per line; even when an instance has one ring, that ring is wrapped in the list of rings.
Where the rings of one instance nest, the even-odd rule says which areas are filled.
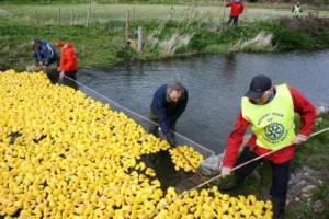
[[[76,80],[76,74],[78,70],[78,61],[73,46],[70,42],[67,42],[65,45],[61,41],[55,43],[56,47],[60,51],[59,67],[58,71],[60,72],[59,80],[63,79],[64,74]]]

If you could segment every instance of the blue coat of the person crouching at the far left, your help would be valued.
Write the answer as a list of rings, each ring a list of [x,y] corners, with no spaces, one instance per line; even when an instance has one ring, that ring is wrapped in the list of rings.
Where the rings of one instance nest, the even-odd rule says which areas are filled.
[[[42,61],[43,66],[49,66],[57,61],[57,54],[54,47],[47,42],[41,41],[41,46],[34,51],[36,62]]]

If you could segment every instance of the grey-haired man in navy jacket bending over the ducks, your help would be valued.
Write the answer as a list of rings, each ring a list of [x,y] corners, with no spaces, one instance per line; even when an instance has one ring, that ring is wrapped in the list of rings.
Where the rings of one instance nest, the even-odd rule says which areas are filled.
[[[160,126],[171,146],[175,145],[175,138],[170,129],[175,130],[175,123],[185,111],[188,99],[188,90],[179,82],[161,85],[154,95],[149,118]],[[159,126],[156,124],[150,124],[149,131],[158,137]]]

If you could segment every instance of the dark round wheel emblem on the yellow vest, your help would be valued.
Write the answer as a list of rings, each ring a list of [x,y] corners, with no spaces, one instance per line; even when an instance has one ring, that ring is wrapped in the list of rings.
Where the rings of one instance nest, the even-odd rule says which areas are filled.
[[[265,127],[264,132],[263,132],[263,137],[272,143],[282,141],[286,137],[286,135],[287,135],[286,129],[280,123],[269,124]]]

